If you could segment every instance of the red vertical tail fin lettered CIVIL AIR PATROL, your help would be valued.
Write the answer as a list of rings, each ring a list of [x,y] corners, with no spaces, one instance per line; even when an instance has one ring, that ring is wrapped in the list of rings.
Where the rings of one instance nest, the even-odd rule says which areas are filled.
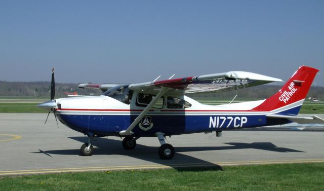
[[[284,113],[297,115],[300,105],[305,99],[317,72],[318,69],[316,68],[300,66],[293,76],[276,94],[266,99],[262,104],[255,107],[253,110],[272,111],[287,105],[291,105],[291,107],[283,108],[286,111]],[[294,105],[293,103],[296,103],[297,105]],[[283,110],[278,112],[283,112]]]

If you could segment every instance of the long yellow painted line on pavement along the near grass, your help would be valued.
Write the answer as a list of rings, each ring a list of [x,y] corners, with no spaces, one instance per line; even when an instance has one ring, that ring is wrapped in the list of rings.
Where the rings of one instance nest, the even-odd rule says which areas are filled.
[[[239,161],[239,162],[216,162],[216,163],[186,163],[168,165],[133,165],[133,166],[110,166],[110,167],[81,167],[81,168],[57,168],[57,169],[34,169],[0,171],[0,175],[28,175],[49,174],[62,172],[89,172],[89,171],[116,171],[116,170],[144,170],[144,169],[168,169],[179,167],[208,167],[208,166],[238,166],[238,165],[265,165],[265,164],[293,164],[293,163],[322,163],[324,159],[300,159],[300,160],[269,160],[269,161]]]

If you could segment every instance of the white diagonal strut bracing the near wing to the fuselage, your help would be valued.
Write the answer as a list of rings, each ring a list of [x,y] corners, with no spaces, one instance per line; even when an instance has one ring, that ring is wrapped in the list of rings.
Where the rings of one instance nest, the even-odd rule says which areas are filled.
[[[132,130],[135,128],[135,126],[140,123],[142,118],[145,116],[145,114],[153,107],[153,105],[157,102],[159,98],[161,98],[170,88],[161,86],[161,90],[158,92],[158,94],[152,99],[152,101],[145,107],[145,109],[140,113],[140,115],[134,120],[134,122],[123,131],[119,132],[119,135],[133,135],[134,133]]]

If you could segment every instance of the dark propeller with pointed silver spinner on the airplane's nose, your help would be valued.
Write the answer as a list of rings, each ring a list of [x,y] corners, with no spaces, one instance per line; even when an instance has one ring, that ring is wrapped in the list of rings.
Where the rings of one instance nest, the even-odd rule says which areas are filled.
[[[50,116],[51,111],[54,113],[55,121],[57,124],[57,128],[59,129],[59,124],[56,118],[56,101],[55,101],[55,80],[54,80],[54,68],[52,69],[52,80],[51,80],[51,100],[46,101],[44,103],[38,104],[38,107],[42,109],[48,110],[49,113],[47,114],[47,118],[45,120],[45,124]]]

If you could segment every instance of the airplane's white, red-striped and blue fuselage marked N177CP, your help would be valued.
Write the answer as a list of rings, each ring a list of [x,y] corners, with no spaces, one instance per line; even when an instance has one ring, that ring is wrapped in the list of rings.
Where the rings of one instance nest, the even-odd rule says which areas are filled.
[[[147,96],[146,96],[147,95]],[[149,94],[132,92],[120,99],[106,95],[56,99],[56,115],[69,128],[88,136],[120,136],[150,101]],[[122,96],[121,96],[122,97]],[[135,137],[178,135],[290,123],[266,114],[299,110],[303,100],[272,111],[255,111],[264,100],[223,105],[201,104],[183,95],[164,95],[133,129]]]

